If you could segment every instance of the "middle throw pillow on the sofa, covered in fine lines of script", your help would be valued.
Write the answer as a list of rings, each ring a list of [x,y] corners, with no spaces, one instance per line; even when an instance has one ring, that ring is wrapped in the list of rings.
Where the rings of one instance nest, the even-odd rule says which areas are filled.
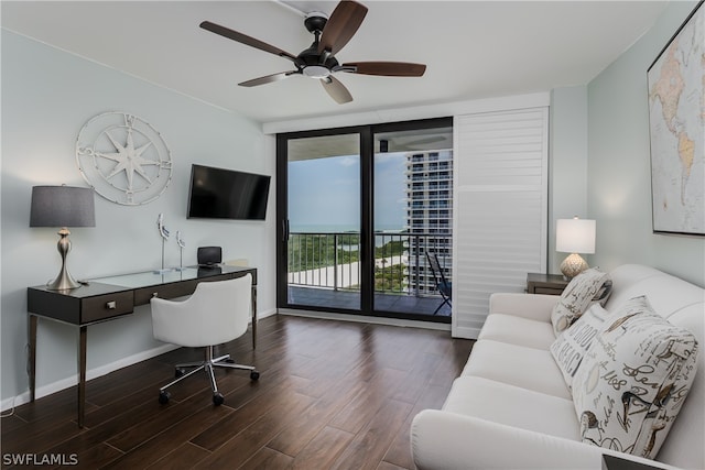
[[[603,329],[605,320],[610,317],[612,315],[609,311],[595,303],[551,345],[551,353],[568,389],[572,389],[573,376],[583,362],[587,349]]]

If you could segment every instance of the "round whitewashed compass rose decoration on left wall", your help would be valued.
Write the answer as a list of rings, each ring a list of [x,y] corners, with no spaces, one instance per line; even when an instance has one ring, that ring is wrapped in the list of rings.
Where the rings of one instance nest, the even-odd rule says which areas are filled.
[[[86,122],[76,139],[76,161],[96,193],[126,206],[151,203],[172,179],[162,135],[127,112],[105,112]]]

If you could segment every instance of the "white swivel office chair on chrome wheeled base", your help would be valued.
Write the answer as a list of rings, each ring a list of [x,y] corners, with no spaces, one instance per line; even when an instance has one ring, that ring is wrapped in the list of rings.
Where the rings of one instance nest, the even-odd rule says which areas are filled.
[[[232,341],[247,331],[252,298],[252,276],[247,274],[228,281],[202,282],[185,300],[152,298],[152,330],[154,338],[189,348],[205,347],[205,360],[176,365],[176,380],[159,390],[159,402],[169,403],[166,389],[205,370],[213,389],[213,403],[220,405],[223,394],[214,374],[214,368],[245,369],[250,379],[258,380],[260,373],[252,365],[234,363],[230,354],[213,357],[215,345]],[[189,372],[185,369],[195,368]]]

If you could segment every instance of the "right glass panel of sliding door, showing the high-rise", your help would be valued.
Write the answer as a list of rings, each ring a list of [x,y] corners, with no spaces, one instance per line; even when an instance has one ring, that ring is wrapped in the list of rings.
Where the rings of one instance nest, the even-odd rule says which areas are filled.
[[[373,309],[451,317],[429,256],[452,278],[453,127],[380,130],[373,156]],[[440,276],[441,273],[436,273]]]

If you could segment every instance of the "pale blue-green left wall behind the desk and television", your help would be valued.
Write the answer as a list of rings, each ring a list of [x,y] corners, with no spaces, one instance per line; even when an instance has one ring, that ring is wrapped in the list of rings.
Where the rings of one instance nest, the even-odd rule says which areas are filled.
[[[87,186],[76,165],[76,136],[88,119],[116,110],[133,113],[162,133],[172,153],[173,179],[159,199],[144,206],[120,206],[96,195],[96,227],[72,230],[72,274],[89,278],[160,267],[156,217],[163,214],[172,232],[184,234],[184,264],[195,264],[196,248],[205,244],[221,245],[226,260],[248,259],[260,270],[260,313],[275,310],[275,184],[264,222],[186,219],[192,163],[274,175],[273,139],[261,125],[3,30],[3,408],[10,397],[28,391],[26,286],[43,284],[61,267],[56,230],[29,227],[32,186]],[[178,262],[172,238],[166,265]],[[76,329],[41,321],[37,342],[39,390],[68,386],[76,374]],[[88,369],[109,369],[159,346],[149,309],[140,307],[129,318],[88,329]]]

